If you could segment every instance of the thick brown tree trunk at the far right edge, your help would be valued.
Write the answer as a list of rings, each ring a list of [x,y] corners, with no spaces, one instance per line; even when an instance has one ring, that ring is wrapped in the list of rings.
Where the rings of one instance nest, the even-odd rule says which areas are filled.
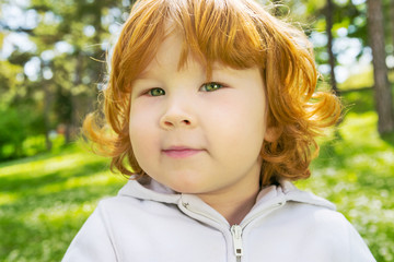
[[[372,49],[374,98],[380,134],[394,131],[394,114],[391,86],[385,63],[384,27],[381,0],[368,0],[368,32]]]

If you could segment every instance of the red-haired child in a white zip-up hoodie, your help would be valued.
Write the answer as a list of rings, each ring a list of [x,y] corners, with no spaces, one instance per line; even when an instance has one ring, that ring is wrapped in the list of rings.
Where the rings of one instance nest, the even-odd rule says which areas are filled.
[[[339,118],[306,38],[253,0],[140,0],[112,56],[106,126],[129,176],[63,261],[374,261],[335,206],[298,190]]]

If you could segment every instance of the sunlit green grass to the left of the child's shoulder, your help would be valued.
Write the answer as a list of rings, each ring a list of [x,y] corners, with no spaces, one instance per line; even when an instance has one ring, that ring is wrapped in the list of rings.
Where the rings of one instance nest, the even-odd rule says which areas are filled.
[[[0,261],[60,261],[96,203],[125,183],[70,147],[0,165]]]

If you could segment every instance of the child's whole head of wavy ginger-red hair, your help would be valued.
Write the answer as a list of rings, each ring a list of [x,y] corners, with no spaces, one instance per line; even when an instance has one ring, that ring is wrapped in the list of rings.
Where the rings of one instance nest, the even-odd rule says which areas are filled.
[[[154,58],[171,23],[183,34],[179,64],[189,53],[202,61],[207,75],[220,62],[234,69],[258,67],[268,103],[267,126],[276,138],[262,146],[262,184],[310,176],[318,152],[315,138],[340,117],[329,92],[315,92],[317,71],[312,47],[302,31],[253,0],[140,0],[131,10],[113,50],[104,94],[105,120],[89,115],[84,134],[100,154],[112,157],[111,169],[144,176],[129,139],[129,95],[134,80]]]

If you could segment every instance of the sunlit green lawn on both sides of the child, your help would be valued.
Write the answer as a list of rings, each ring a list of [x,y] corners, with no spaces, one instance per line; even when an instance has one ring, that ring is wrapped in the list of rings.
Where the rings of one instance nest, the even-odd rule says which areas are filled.
[[[376,260],[393,261],[394,135],[380,139],[376,115],[361,105],[321,141],[311,179],[298,186],[337,204]],[[107,165],[77,146],[0,164],[0,261],[60,261],[97,201],[125,183]]]

